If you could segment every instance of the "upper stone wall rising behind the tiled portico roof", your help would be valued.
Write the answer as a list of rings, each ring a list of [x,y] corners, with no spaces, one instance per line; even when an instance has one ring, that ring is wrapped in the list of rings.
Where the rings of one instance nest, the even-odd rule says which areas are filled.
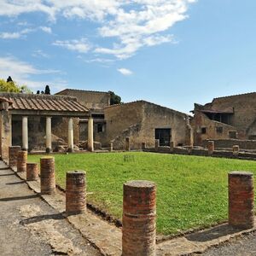
[[[110,94],[108,92],[67,89],[57,94],[75,96],[78,102],[89,109],[103,109],[110,105]]]

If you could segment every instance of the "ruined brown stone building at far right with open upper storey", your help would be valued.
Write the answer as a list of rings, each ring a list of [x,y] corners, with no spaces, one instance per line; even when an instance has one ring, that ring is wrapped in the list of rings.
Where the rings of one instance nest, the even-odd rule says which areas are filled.
[[[256,93],[215,98],[206,105],[195,104],[195,145],[205,140],[256,139]]]

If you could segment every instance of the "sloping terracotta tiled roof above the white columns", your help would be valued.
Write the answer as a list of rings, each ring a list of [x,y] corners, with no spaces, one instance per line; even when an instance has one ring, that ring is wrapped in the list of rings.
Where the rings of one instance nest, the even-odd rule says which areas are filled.
[[[1,98],[5,98],[9,110],[39,110],[39,111],[64,111],[64,112],[89,112],[75,97],[71,96],[49,96],[23,93],[1,92]]]

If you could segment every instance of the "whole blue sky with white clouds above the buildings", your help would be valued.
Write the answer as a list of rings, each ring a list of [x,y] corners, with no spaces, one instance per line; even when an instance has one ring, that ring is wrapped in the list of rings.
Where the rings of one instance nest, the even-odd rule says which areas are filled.
[[[0,78],[188,113],[255,91],[256,1],[0,0]]]

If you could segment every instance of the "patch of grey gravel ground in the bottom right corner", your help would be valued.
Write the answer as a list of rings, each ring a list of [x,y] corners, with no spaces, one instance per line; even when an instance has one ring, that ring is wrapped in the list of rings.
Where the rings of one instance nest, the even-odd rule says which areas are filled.
[[[256,255],[256,232],[236,238],[219,247],[212,247],[204,256],[249,256]]]

